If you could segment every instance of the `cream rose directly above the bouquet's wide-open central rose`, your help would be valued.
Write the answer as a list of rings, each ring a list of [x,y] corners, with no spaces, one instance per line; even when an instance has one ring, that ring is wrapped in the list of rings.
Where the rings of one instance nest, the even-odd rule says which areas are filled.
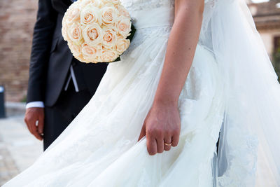
[[[80,13],[80,23],[83,25],[89,25],[92,22],[96,22],[99,25],[102,24],[102,18],[100,11],[94,6],[87,6]]]

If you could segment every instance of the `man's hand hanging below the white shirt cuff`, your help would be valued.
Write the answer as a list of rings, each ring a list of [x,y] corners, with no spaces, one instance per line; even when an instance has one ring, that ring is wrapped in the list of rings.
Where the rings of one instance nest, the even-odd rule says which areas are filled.
[[[44,125],[44,109],[32,107],[28,108],[25,113],[25,123],[28,130],[36,139],[43,139],[43,125]]]

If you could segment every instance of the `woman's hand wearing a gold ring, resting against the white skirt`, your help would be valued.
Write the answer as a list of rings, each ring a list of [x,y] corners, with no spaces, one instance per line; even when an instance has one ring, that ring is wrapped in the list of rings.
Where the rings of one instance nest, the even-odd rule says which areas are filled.
[[[180,116],[175,104],[153,104],[144,121],[139,140],[146,135],[148,153],[155,155],[164,150],[169,151],[171,146],[177,146],[180,130]]]

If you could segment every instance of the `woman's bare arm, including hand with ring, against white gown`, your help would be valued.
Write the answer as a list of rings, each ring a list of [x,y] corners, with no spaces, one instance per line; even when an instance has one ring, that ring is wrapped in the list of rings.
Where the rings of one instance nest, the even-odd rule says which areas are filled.
[[[179,143],[178,99],[188,76],[200,35],[204,0],[175,0],[175,20],[153,106],[139,139],[146,135],[148,153],[169,151]],[[166,143],[166,144],[165,144]]]

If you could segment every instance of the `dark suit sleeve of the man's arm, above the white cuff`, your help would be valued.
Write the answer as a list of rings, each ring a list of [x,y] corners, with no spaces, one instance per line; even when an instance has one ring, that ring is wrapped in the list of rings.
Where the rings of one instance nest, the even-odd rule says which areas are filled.
[[[39,0],[31,48],[27,103],[44,101],[46,73],[56,20],[57,12],[52,8],[51,1]]]

